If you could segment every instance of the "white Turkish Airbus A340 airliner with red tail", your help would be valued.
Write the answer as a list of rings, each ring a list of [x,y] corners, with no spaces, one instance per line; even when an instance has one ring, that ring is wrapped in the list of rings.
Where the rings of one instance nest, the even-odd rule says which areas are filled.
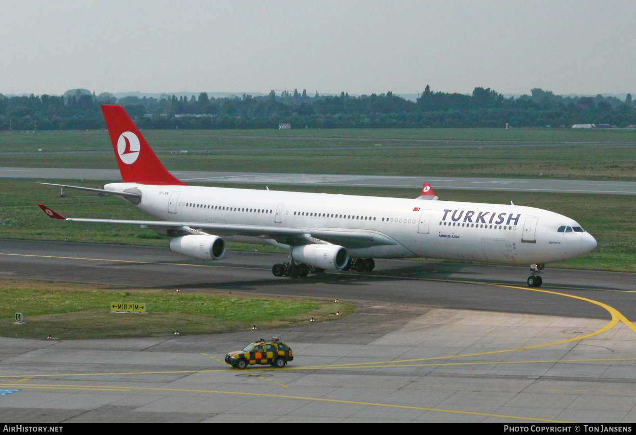
[[[289,249],[289,261],[273,265],[273,274],[293,278],[370,271],[373,258],[425,257],[529,264],[528,285],[541,286],[544,264],[597,246],[569,217],[512,204],[422,201],[437,199],[427,185],[417,199],[186,185],[166,170],[123,107],[102,110],[123,182],[64,187],[121,196],[156,220],[67,218],[39,204],[49,217],[141,225],[170,236],[170,250],[201,260],[223,258],[224,238],[270,243]]]

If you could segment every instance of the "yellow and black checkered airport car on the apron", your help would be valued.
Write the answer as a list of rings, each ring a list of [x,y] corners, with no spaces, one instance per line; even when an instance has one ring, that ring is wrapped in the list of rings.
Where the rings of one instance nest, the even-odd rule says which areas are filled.
[[[272,340],[259,340],[250,343],[242,351],[234,351],[226,354],[225,362],[232,367],[245,368],[248,365],[271,365],[282,368],[293,361],[294,352],[291,348],[281,342],[279,338],[272,337]]]

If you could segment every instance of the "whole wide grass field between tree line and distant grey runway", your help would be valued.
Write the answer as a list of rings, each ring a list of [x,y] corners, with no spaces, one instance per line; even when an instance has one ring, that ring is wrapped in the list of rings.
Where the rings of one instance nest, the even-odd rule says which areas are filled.
[[[170,170],[636,180],[635,130],[148,130],[144,133],[156,150],[190,151],[161,152],[160,157]],[[37,152],[39,148],[44,151]],[[0,152],[16,151],[34,154],[5,154],[0,166],[116,168],[105,131],[0,132]],[[103,152],[57,153],[62,151]]]

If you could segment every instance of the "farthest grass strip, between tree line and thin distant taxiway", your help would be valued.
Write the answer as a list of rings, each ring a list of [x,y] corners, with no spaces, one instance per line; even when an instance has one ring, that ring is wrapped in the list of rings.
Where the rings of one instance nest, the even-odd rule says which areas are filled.
[[[231,144],[277,144],[319,142],[333,144],[333,139],[397,139],[397,140],[460,140],[472,142],[636,142],[634,130],[573,130],[571,128],[334,128],[293,130],[144,130],[144,135],[156,149],[202,149]],[[268,140],[269,139],[269,140]],[[230,142],[228,142],[230,141]],[[104,149],[110,141],[104,130],[0,131],[3,151],[73,151]]]

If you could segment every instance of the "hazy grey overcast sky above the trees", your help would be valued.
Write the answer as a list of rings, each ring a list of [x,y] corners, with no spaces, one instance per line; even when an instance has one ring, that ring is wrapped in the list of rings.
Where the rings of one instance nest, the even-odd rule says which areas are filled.
[[[0,0],[0,92],[636,91],[636,2]]]

